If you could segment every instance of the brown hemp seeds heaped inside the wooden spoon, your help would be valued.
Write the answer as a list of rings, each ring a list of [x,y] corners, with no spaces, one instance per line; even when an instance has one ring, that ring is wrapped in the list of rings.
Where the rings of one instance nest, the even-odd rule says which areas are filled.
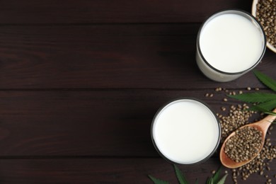
[[[244,127],[226,141],[224,153],[233,161],[247,161],[258,154],[261,146],[262,132],[255,127]]]

